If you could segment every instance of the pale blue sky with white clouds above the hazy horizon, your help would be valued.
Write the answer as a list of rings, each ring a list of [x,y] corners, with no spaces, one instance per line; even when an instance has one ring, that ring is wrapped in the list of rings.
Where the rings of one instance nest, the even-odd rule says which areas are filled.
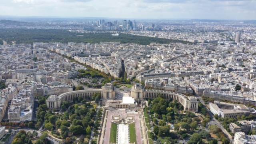
[[[0,16],[256,20],[256,0],[0,0]]]

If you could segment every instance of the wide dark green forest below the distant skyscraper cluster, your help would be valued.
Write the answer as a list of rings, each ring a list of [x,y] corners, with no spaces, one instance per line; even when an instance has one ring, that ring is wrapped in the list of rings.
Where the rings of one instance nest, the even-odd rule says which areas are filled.
[[[78,36],[79,35],[79,36]],[[170,42],[181,42],[184,44],[192,44],[191,42],[182,40],[172,40],[165,38],[152,38],[147,36],[136,36],[130,34],[120,34],[112,36],[112,33],[76,33],[68,30],[59,29],[1,29],[0,40],[12,44],[33,42],[85,42],[85,43],[100,43],[100,42],[121,42],[135,43],[147,45],[151,42],[160,44],[169,44]],[[2,42],[1,42],[2,43]],[[0,43],[0,44],[1,44]]]

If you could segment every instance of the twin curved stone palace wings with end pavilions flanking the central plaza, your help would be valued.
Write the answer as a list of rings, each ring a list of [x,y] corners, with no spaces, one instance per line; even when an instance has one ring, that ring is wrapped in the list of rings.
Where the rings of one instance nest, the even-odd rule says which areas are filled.
[[[101,97],[104,99],[114,99],[116,96],[115,87],[108,83],[102,86],[102,89],[92,89],[92,90],[78,90],[73,92],[67,92],[59,96],[50,96],[46,100],[48,108],[60,108],[63,101],[73,102],[73,98],[81,96],[82,98],[91,98],[93,94],[100,93]],[[198,111],[198,100],[194,96],[185,96],[177,92],[169,92],[164,90],[145,90],[141,84],[136,83],[131,87],[131,97],[135,100],[144,98],[157,98],[158,94],[162,94],[164,99],[178,100],[183,106],[184,110],[188,111]]]

